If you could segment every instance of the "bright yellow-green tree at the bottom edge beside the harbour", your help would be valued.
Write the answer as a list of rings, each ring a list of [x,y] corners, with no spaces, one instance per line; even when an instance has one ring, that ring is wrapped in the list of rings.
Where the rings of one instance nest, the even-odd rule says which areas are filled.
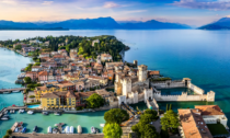
[[[116,123],[106,124],[103,128],[104,138],[120,138],[123,135],[123,129]]]

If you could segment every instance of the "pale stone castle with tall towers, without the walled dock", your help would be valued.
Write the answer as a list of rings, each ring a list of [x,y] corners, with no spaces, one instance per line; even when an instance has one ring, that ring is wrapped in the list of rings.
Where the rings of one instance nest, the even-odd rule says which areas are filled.
[[[116,74],[115,92],[118,99],[118,105],[135,104],[140,101],[153,97],[153,91],[150,89],[148,78],[148,67],[138,66],[136,71],[123,71]]]

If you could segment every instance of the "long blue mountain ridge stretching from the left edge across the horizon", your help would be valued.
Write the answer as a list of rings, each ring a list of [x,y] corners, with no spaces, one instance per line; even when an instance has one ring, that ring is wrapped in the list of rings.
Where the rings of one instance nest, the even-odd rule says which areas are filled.
[[[156,20],[147,22],[117,23],[112,18],[79,19],[60,22],[12,22],[0,21],[0,30],[3,28],[70,28],[70,30],[158,30],[158,28],[191,28],[179,23],[164,23]]]

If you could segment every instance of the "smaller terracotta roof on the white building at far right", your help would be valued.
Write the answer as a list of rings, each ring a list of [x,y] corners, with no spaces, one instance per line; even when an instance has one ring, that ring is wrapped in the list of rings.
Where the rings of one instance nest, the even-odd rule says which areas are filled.
[[[196,105],[195,108],[200,110],[202,115],[225,115],[218,105]]]

